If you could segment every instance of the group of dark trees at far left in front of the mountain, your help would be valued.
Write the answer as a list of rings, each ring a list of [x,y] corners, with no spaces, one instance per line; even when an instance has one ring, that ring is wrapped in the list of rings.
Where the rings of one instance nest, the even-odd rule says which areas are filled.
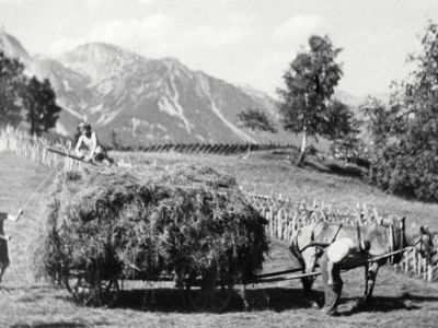
[[[0,125],[27,121],[30,133],[41,136],[55,127],[60,110],[47,79],[27,78],[22,62],[0,51]]]

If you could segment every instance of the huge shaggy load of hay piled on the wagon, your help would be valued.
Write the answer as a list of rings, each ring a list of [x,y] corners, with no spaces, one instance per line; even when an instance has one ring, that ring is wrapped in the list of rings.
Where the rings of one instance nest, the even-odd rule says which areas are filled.
[[[233,178],[205,166],[142,169],[58,176],[34,256],[39,273],[58,280],[99,268],[103,279],[215,272],[235,280],[262,269],[266,222]]]

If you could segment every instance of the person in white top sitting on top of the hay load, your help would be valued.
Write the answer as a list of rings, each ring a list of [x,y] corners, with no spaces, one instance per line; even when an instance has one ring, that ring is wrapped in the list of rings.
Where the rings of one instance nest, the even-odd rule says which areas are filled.
[[[89,122],[81,121],[79,124],[79,131],[81,136],[78,139],[78,143],[74,148],[74,153],[85,162],[100,162],[104,160],[108,161],[110,165],[114,163],[114,160],[108,156],[106,150],[99,144],[96,133],[91,129]]]

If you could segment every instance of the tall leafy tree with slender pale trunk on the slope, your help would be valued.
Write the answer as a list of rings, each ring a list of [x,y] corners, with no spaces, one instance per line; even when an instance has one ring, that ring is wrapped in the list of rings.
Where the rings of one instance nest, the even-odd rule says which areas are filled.
[[[335,62],[341,50],[327,36],[311,36],[309,51],[299,52],[283,77],[286,89],[277,91],[285,129],[302,133],[298,165],[304,161],[308,136],[316,138],[335,130],[326,109],[343,74],[341,65]]]

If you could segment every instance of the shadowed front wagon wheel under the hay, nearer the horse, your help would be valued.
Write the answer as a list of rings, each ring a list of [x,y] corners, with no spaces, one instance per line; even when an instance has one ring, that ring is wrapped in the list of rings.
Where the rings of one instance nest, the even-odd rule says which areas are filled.
[[[230,304],[232,289],[232,283],[219,283],[217,274],[204,277],[198,286],[187,284],[188,300],[197,311],[219,313]]]

